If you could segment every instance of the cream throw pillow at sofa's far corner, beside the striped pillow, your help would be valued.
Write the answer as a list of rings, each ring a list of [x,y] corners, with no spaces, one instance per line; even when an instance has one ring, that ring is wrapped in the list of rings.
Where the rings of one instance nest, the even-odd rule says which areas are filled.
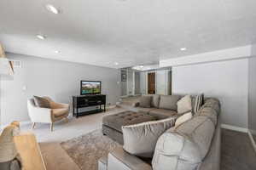
[[[177,101],[177,113],[183,114],[192,110],[191,96],[186,95]]]

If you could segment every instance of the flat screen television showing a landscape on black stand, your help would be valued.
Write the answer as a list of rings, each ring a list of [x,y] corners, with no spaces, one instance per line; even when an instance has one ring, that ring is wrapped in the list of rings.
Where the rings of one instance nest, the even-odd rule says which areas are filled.
[[[81,81],[80,94],[101,94],[102,82],[100,81]]]

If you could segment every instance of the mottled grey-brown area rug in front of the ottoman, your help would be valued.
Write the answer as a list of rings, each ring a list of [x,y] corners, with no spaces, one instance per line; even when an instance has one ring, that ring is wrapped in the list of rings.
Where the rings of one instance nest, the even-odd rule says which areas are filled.
[[[102,134],[102,129],[61,142],[61,147],[81,170],[97,170],[97,161],[118,146],[120,144]]]

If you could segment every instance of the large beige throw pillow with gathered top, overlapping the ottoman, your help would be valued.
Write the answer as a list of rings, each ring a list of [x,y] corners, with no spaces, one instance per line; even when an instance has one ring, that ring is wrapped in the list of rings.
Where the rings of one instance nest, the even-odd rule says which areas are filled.
[[[122,127],[124,150],[131,155],[152,158],[160,135],[175,124],[175,118]]]

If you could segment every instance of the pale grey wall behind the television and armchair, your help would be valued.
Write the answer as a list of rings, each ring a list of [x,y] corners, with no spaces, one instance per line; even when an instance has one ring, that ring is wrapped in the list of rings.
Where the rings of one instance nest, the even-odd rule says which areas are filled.
[[[79,95],[80,80],[102,81],[102,94],[107,94],[107,102],[114,105],[119,99],[119,70],[20,54],[7,54],[7,57],[21,60],[22,68],[15,69],[13,80],[1,81],[3,124],[28,120],[26,99],[32,95],[71,103],[72,95]]]

